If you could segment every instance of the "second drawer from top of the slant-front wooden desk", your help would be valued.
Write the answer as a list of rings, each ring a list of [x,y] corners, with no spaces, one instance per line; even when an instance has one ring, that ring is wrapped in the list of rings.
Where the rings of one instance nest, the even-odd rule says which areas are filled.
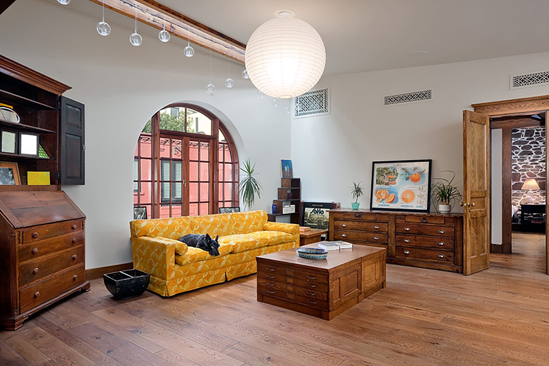
[[[33,260],[47,254],[84,244],[84,232],[59,235],[19,246],[19,262]]]

